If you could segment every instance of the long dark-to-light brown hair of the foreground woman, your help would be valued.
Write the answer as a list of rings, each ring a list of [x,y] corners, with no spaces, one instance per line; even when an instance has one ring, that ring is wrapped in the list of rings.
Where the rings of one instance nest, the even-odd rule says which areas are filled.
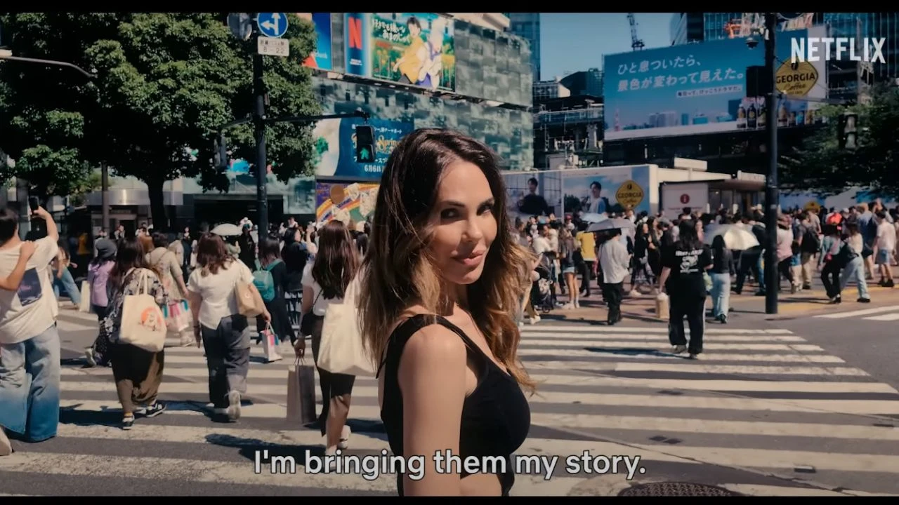
[[[441,305],[441,272],[428,258],[432,209],[449,164],[465,161],[484,173],[494,196],[497,235],[485,257],[484,272],[467,286],[468,306],[494,356],[515,380],[533,391],[534,382],[518,359],[521,334],[512,319],[521,305],[521,271],[529,254],[517,243],[506,213],[506,193],[497,159],[471,137],[445,129],[409,134],[387,159],[362,263],[360,328],[370,358],[384,356],[390,333],[409,306],[421,303],[432,314]]]

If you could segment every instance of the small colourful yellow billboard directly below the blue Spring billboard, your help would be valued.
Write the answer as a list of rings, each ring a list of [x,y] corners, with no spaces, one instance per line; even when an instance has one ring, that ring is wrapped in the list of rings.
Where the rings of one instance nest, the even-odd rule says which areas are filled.
[[[375,209],[378,184],[375,182],[316,181],[316,221],[343,221],[353,228]]]

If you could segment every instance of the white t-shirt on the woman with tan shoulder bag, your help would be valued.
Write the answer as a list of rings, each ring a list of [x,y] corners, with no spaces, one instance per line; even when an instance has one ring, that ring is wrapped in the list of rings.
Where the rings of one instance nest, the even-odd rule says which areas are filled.
[[[203,269],[193,270],[187,290],[200,295],[200,324],[209,329],[218,328],[223,317],[237,314],[235,289],[238,282],[253,282],[253,272],[243,261],[226,263],[218,273],[202,275]]]

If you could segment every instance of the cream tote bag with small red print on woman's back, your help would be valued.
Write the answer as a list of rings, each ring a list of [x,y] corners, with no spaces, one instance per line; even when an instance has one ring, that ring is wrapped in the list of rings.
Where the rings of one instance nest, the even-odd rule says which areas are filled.
[[[165,315],[150,295],[150,272],[142,269],[138,275],[138,294],[126,296],[122,305],[119,341],[159,352],[165,348]]]

